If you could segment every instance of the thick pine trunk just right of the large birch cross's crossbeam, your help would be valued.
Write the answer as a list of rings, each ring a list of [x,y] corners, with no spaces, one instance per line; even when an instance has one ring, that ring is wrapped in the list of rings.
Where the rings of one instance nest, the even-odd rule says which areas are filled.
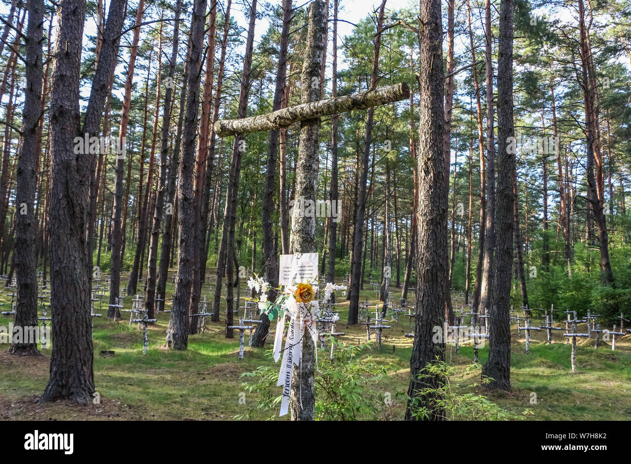
[[[444,361],[444,340],[436,342],[433,328],[445,320],[449,298],[447,277],[447,201],[449,170],[443,152],[444,116],[442,67],[442,21],[440,0],[420,2],[418,123],[418,239],[416,260],[416,318],[410,358],[410,387],[405,419],[414,419],[420,407],[428,409],[431,420],[441,420],[442,408],[433,398],[419,395],[424,388],[437,388],[441,376],[425,371],[427,364]],[[421,258],[422,257],[422,258]]]

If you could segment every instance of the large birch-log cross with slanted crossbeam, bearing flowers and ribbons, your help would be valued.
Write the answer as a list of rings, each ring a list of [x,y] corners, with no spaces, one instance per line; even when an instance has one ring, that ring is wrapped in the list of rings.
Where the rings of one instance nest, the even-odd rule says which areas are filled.
[[[322,116],[331,116],[352,110],[368,109],[398,102],[410,97],[405,83],[375,88],[367,92],[344,97],[320,100],[321,71],[326,51],[324,37],[327,33],[327,6],[322,0],[314,0],[309,6],[309,29],[300,78],[301,104],[268,114],[242,119],[215,122],[215,133],[220,137],[272,131],[288,128],[300,122],[298,161],[295,179],[295,198],[312,201],[315,205],[317,172],[319,167],[319,137]],[[306,217],[300,208],[293,208],[293,253],[315,252],[315,215]],[[302,366],[293,371],[292,420],[314,420],[314,344],[310,336],[302,340]]]

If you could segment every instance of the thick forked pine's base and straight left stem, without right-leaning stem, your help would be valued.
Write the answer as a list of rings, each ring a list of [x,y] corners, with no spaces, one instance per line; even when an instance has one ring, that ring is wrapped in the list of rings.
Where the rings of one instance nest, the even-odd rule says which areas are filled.
[[[80,136],[79,79],[85,1],[64,0],[57,15],[50,97],[50,379],[40,402],[86,405],[94,393],[90,280],[86,268],[89,165],[74,153]],[[83,164],[83,165],[82,165]]]

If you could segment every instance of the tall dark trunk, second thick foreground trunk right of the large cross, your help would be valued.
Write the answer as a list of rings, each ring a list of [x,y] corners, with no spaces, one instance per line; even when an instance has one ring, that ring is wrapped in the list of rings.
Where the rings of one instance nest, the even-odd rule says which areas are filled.
[[[488,359],[482,375],[489,388],[510,389],[510,280],[514,227],[513,175],[515,155],[509,150],[513,126],[513,15],[514,0],[500,3],[500,35],[497,59],[497,208],[495,210],[495,260],[490,295]],[[489,180],[490,181],[490,180]]]

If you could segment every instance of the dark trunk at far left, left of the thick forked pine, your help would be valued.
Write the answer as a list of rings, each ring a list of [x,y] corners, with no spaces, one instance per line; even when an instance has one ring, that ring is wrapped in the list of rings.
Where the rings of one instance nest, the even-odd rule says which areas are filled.
[[[26,78],[22,136],[16,179],[15,216],[15,268],[18,301],[15,309],[13,334],[21,331],[23,340],[13,340],[9,353],[37,355],[37,340],[26,340],[27,333],[38,326],[37,322],[37,258],[35,256],[35,190],[37,188],[37,128],[42,105],[42,38],[44,37],[44,0],[30,0],[26,37]]]

